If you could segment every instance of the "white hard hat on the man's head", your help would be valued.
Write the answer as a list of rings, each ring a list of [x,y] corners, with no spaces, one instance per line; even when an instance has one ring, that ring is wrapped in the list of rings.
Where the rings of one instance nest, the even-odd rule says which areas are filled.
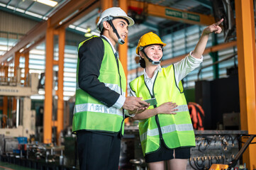
[[[119,7],[112,7],[112,8],[107,8],[105,11],[101,13],[101,16],[99,17],[99,21],[96,25],[99,31],[101,31],[103,28],[102,23],[104,21],[107,21],[110,16],[126,18],[129,21],[129,26],[133,26],[134,24],[133,19],[127,16],[126,12],[123,11],[123,9]]]

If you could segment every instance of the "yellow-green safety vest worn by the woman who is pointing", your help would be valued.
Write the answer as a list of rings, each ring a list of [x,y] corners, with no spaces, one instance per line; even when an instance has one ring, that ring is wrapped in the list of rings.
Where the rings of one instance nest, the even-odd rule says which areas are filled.
[[[160,140],[164,140],[165,145],[170,149],[195,146],[194,129],[191,125],[182,81],[176,84],[173,65],[162,68],[161,72],[157,72],[152,95],[145,84],[144,75],[131,81],[130,89],[135,92],[137,97],[142,97],[143,100],[155,97],[157,106],[172,101],[177,103],[179,109],[176,115],[158,114],[140,120],[140,142],[144,155],[157,151],[160,148]],[[157,106],[150,106],[148,109]]]

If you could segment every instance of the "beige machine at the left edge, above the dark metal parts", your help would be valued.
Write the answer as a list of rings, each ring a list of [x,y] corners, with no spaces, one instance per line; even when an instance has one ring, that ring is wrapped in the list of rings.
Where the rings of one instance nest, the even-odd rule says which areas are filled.
[[[31,111],[30,96],[38,94],[38,74],[28,74],[26,80],[22,80],[21,69],[16,69],[16,72],[16,77],[11,72],[0,74],[0,100],[3,108],[0,114],[0,134],[30,138],[35,135],[35,111]]]

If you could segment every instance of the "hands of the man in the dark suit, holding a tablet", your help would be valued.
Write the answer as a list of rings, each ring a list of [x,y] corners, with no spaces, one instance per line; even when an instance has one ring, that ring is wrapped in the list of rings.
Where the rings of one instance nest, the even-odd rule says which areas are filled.
[[[141,100],[142,98],[137,98],[134,96],[126,97],[126,101],[123,103],[123,108],[126,109],[130,114],[137,114],[145,111],[145,109],[150,106],[145,101]]]

